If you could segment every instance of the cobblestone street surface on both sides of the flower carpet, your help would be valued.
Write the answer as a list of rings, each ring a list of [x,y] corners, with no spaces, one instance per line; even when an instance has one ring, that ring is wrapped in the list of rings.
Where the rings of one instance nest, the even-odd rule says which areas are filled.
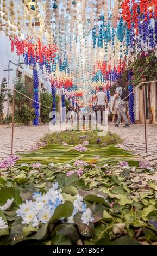
[[[150,162],[157,165],[157,127],[147,125],[148,154],[146,154],[144,126],[134,124],[128,129],[124,129],[122,126],[116,128],[109,124],[108,130],[120,135],[129,148],[141,156],[147,156]],[[49,132],[48,125],[15,127],[14,153],[28,150],[47,132]],[[10,151],[11,128],[0,129],[0,159],[9,155]]]

